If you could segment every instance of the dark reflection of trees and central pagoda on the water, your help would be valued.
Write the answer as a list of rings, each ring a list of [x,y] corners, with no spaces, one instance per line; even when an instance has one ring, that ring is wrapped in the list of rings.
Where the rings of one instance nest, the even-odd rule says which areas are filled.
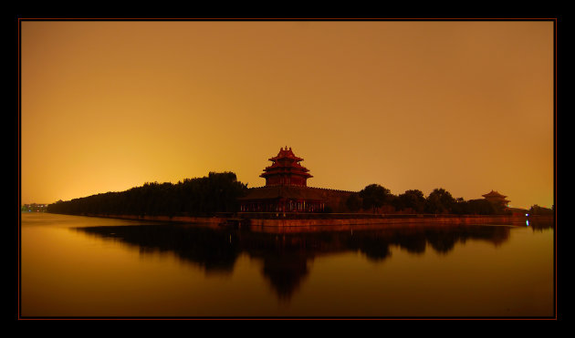
[[[499,244],[507,241],[509,228],[480,225],[422,225],[368,230],[267,233],[207,228],[181,224],[103,226],[78,228],[92,235],[135,245],[141,251],[170,251],[206,272],[234,269],[245,252],[263,261],[263,275],[280,299],[288,300],[309,273],[309,261],[327,253],[359,251],[370,261],[385,261],[395,245],[423,254],[427,244],[447,254],[457,242],[479,240]]]

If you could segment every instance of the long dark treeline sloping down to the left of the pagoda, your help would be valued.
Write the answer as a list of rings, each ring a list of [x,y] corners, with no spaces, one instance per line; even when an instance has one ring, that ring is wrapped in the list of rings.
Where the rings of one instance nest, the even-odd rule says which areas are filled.
[[[207,177],[184,179],[177,184],[145,183],[120,192],[50,204],[48,212],[73,215],[207,216],[239,209],[237,198],[244,196],[246,184],[235,173],[210,172]]]

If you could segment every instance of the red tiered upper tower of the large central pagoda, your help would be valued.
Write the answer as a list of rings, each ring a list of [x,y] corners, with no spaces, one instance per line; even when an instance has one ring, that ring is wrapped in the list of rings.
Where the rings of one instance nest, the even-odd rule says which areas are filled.
[[[259,175],[266,179],[266,186],[287,185],[307,187],[309,178],[312,178],[308,173],[308,169],[302,167],[299,162],[303,159],[294,155],[291,148],[288,147],[279,149],[276,157],[268,159],[273,164],[266,169],[264,173]]]

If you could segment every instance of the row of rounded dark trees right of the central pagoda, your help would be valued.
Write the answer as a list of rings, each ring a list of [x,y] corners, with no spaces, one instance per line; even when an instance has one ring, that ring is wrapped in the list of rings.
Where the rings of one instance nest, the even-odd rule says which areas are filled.
[[[373,212],[433,213],[458,215],[500,215],[508,214],[504,205],[488,200],[455,199],[445,189],[434,189],[425,197],[421,190],[406,190],[403,194],[393,195],[390,189],[379,184],[371,184],[360,192],[350,195],[346,203],[350,211],[371,210]]]

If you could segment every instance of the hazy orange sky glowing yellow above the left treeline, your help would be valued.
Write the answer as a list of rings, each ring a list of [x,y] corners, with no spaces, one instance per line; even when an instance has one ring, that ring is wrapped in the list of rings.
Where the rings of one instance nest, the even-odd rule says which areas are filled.
[[[234,171],[553,204],[553,21],[22,21],[21,201]]]

